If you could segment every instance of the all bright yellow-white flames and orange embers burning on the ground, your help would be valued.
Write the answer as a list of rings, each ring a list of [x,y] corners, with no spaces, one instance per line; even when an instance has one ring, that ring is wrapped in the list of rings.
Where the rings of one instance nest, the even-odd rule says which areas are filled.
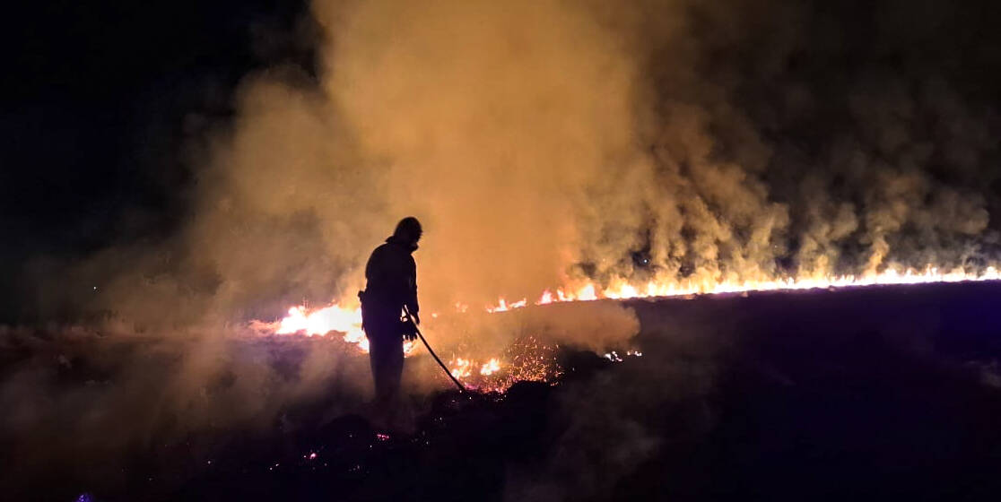
[[[631,299],[655,297],[690,297],[696,294],[748,293],[752,291],[788,291],[804,289],[832,289],[878,285],[947,283],[964,281],[993,281],[1001,279],[1001,273],[995,267],[987,267],[981,273],[969,273],[962,269],[946,272],[937,267],[928,266],[917,269],[887,269],[882,273],[863,274],[861,276],[819,276],[819,277],[786,277],[746,281],[713,282],[707,280],[690,281],[657,281],[645,284],[631,283],[626,280],[614,281],[607,287],[601,287],[594,282],[585,282],[576,287],[566,286],[554,291],[546,290],[535,305],[548,305],[558,302],[592,301],[599,299]],[[485,307],[486,312],[506,312],[529,305],[527,298],[509,302],[499,298],[497,303]],[[459,313],[468,311],[468,305],[462,302],[454,304],[454,310]],[[432,318],[437,317],[432,314]],[[330,332],[343,333],[345,341],[357,344],[358,349],[368,352],[368,339],[361,330],[361,308],[359,305],[340,305],[332,302],[330,305],[308,310],[305,306],[288,309],[288,315],[274,323],[251,322],[253,328],[278,335],[302,334],[305,336],[323,336]],[[417,344],[406,341],[403,352],[410,355]],[[450,361],[451,374],[463,380],[472,388],[505,391],[508,387],[521,380],[548,380],[559,374],[559,367],[549,355],[555,351],[553,347],[539,346],[532,342],[518,348],[517,353],[509,354],[511,362],[503,358],[492,357],[479,363],[470,357],[457,357]],[[628,356],[642,356],[639,351],[628,351]],[[613,361],[622,358],[616,352],[605,355]],[[479,368],[476,372],[475,368]]]

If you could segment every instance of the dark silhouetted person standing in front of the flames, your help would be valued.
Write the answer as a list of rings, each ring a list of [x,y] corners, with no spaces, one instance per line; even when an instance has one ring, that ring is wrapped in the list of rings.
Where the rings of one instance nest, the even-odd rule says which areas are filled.
[[[361,299],[361,327],[368,337],[368,356],[375,380],[375,404],[391,415],[399,394],[403,372],[403,339],[416,335],[409,321],[403,320],[403,306],[414,324],[420,323],[417,311],[417,267],[411,253],[420,240],[420,223],[408,216],[399,220],[396,230],[385,243],[375,248],[365,265],[365,290]]]

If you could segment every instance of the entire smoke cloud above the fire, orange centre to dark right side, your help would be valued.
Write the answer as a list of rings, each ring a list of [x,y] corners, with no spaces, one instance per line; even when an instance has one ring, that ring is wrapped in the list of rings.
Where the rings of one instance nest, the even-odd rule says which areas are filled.
[[[317,1],[315,75],[245,79],[176,244],[67,275],[126,318],[273,317],[351,298],[408,214],[438,311],[577,279],[983,267],[996,107],[941,40],[970,20],[935,5]]]

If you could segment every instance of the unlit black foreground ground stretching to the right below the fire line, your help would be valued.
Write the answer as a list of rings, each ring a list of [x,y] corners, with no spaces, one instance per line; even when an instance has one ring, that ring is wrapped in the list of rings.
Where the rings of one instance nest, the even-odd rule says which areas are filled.
[[[566,349],[559,384],[440,393],[412,434],[313,403],[291,432],[190,439],[212,458],[153,449],[124,483],[53,472],[3,498],[998,499],[1001,284],[629,303],[643,357]]]

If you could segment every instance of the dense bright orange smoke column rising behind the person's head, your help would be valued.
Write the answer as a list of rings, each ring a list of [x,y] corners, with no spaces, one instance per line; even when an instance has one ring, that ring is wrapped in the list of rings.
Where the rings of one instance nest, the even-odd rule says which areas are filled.
[[[613,34],[560,2],[320,2],[315,15],[317,86],[249,80],[215,159],[196,243],[223,301],[273,298],[275,282],[349,295],[407,214],[426,229],[426,306],[565,282],[585,215],[604,210],[590,192],[637,161],[634,70]]]

